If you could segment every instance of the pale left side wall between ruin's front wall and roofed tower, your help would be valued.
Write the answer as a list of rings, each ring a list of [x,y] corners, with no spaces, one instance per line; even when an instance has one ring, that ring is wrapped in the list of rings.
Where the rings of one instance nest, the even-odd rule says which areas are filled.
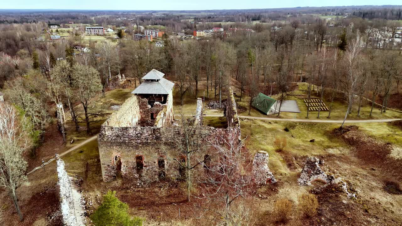
[[[127,99],[120,109],[109,117],[104,123],[106,126],[127,127],[136,126],[140,120],[138,96]]]

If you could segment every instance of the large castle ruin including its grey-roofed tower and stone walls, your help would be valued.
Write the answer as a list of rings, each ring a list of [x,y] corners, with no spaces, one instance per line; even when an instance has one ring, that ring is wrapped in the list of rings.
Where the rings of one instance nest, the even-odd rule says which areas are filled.
[[[180,126],[175,123],[173,115],[174,83],[163,76],[155,69],[148,72],[142,78],[144,82],[132,92],[135,95],[103,123],[98,135],[103,181],[113,181],[119,176],[142,182],[180,178],[182,169],[178,160],[184,159],[170,139],[181,136]],[[197,99],[193,126],[199,127],[207,137],[233,130],[240,134],[233,91],[228,87],[227,92],[227,128],[203,126],[203,103]],[[214,159],[207,149],[195,153],[194,157],[194,161],[205,164]],[[199,172],[205,169],[205,164],[197,166]]]

